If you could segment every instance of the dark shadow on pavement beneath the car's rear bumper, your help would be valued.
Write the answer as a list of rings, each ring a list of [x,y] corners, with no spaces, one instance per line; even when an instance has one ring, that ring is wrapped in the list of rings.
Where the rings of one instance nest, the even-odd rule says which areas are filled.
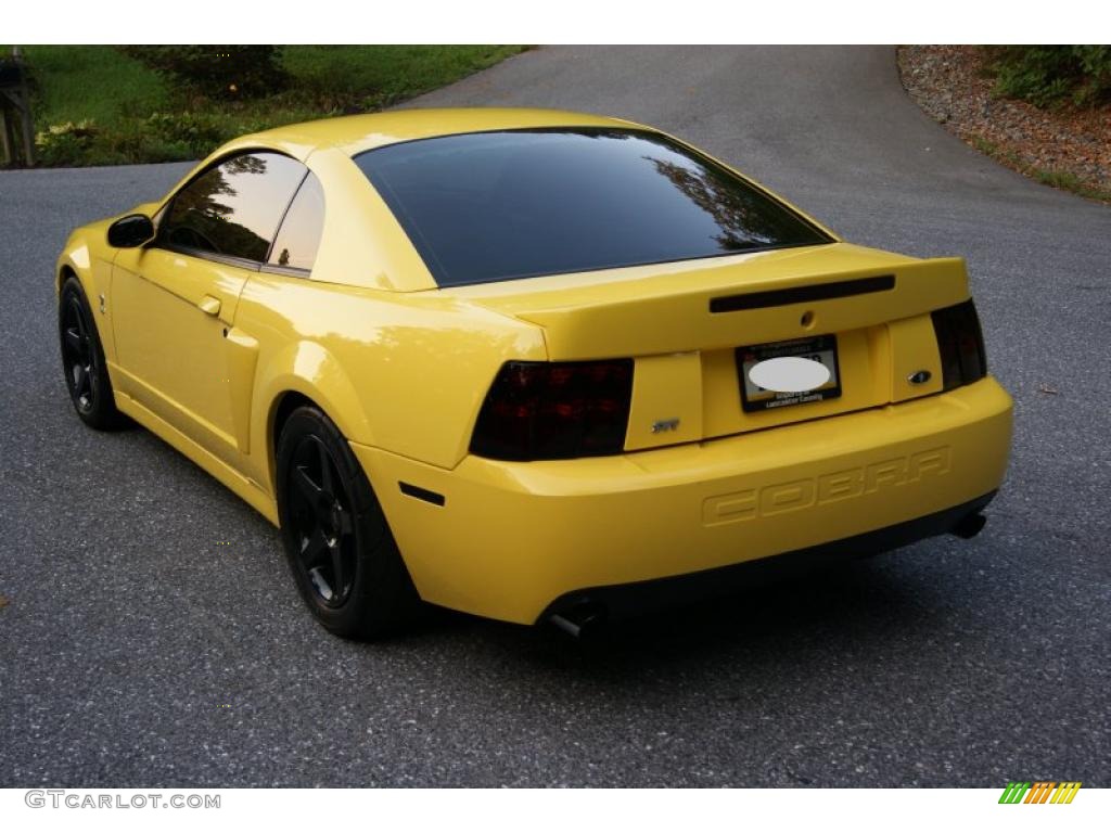
[[[921,553],[908,553],[920,559]],[[744,589],[699,604],[605,623],[573,639],[554,626],[510,625],[436,610],[410,638],[451,634],[468,649],[524,665],[607,676],[680,669],[715,656],[759,665],[784,652],[858,651],[871,641],[914,641],[942,606],[928,576],[895,553]]]

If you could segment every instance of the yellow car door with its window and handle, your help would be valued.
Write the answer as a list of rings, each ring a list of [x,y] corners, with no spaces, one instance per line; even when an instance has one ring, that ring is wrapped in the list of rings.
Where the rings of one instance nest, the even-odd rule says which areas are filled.
[[[173,195],[152,243],[114,263],[121,392],[233,465],[247,452],[237,401],[251,380],[236,378],[243,365],[229,332],[307,174],[280,153],[226,158]]]

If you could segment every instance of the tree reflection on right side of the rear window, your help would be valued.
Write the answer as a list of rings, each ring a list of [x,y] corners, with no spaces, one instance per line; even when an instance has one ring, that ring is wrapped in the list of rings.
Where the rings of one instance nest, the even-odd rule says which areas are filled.
[[[645,157],[721,229],[713,239],[723,251],[743,251],[793,240],[799,227],[775,205],[709,168],[684,167]]]

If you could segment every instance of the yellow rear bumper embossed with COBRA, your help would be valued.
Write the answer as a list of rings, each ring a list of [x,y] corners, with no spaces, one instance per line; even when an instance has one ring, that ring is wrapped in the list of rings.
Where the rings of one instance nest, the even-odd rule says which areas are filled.
[[[584,589],[800,551],[821,559],[822,546],[884,540],[869,533],[894,531],[881,546],[890,549],[945,532],[999,488],[1010,436],[1011,399],[988,378],[885,408],[611,458],[467,458],[449,471],[352,448],[422,598],[532,623]]]

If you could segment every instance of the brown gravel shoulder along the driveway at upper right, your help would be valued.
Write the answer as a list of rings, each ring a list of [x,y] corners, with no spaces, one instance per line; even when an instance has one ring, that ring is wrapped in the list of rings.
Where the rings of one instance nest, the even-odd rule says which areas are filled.
[[[910,97],[965,143],[1033,180],[1111,202],[1111,107],[1042,110],[997,98],[979,47],[907,46]]]

